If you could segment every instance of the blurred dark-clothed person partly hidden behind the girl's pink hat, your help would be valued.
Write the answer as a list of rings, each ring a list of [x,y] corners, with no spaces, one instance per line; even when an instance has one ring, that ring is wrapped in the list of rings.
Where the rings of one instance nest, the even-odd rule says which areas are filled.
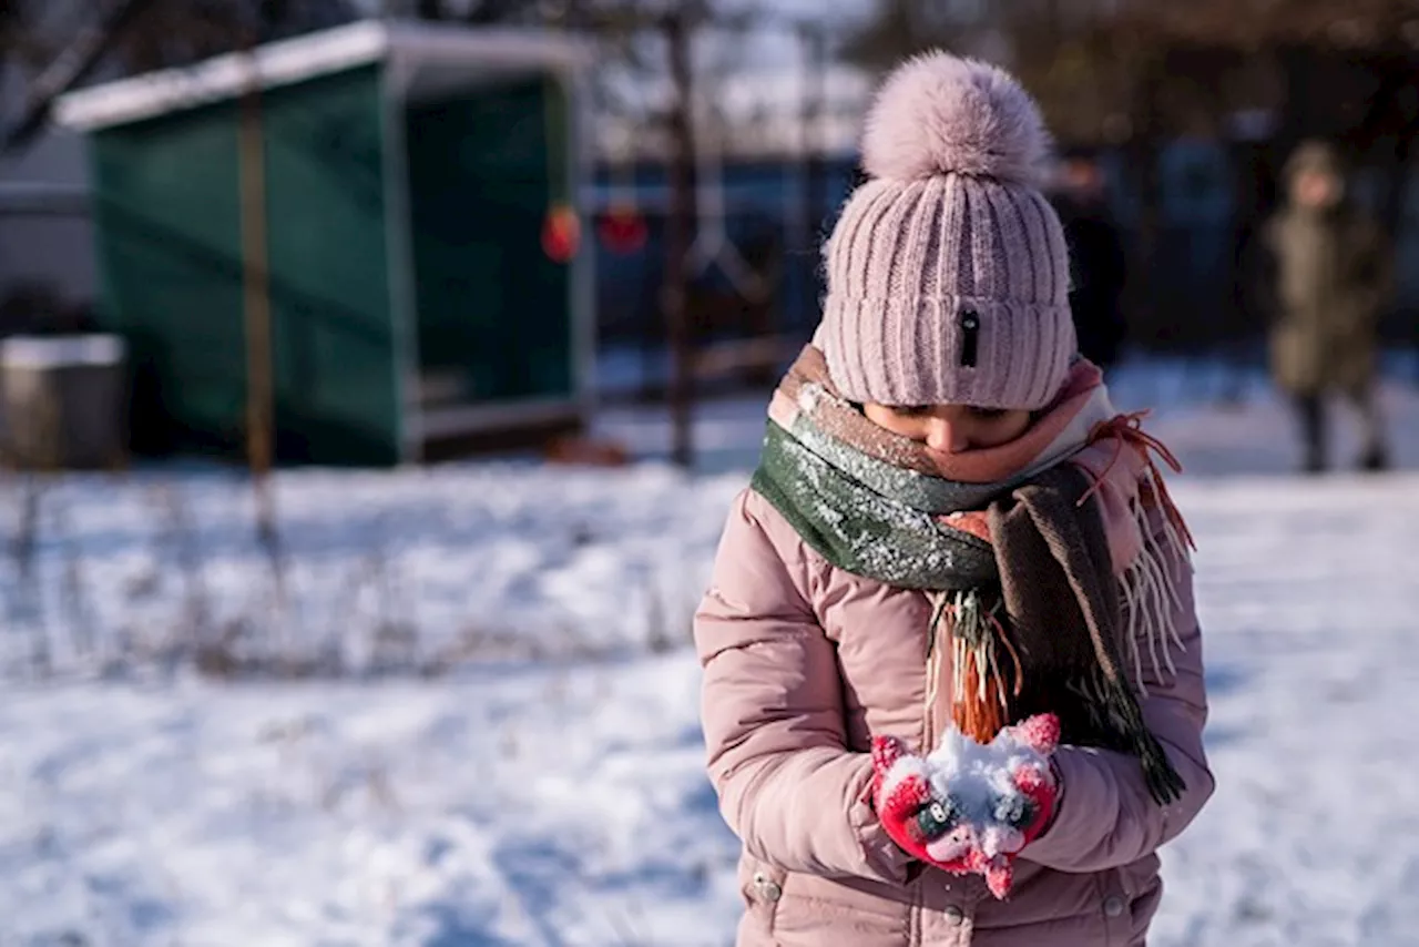
[[[1093,155],[1070,153],[1059,169],[1053,203],[1070,248],[1069,301],[1078,351],[1107,369],[1118,361],[1127,334],[1122,312],[1127,263],[1104,186],[1104,169]]]

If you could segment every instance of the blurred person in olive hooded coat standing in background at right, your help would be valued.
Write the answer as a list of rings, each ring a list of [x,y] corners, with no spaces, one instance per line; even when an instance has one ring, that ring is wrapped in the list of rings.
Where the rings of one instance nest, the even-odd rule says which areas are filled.
[[[1261,230],[1271,375],[1294,402],[1304,470],[1328,463],[1325,400],[1342,395],[1364,425],[1362,470],[1389,464],[1375,398],[1378,319],[1392,275],[1379,224],[1347,193],[1337,150],[1303,143],[1284,170],[1286,206]]]

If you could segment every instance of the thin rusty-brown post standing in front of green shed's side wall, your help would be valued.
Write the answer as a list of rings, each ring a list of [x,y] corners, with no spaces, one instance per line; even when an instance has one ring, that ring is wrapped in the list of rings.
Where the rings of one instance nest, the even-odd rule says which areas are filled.
[[[247,467],[255,496],[257,538],[271,557],[277,595],[285,589],[280,568],[274,461],[274,405],[271,371],[271,280],[267,248],[265,141],[261,126],[261,75],[250,35],[245,41],[247,88],[241,95],[238,129],[241,203],[241,297],[247,341]]]

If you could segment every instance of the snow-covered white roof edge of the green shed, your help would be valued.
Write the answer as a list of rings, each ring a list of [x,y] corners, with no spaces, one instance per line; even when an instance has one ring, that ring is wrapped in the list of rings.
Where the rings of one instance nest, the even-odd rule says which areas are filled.
[[[272,88],[389,58],[490,68],[575,68],[583,61],[575,40],[549,31],[362,20],[268,43],[251,55],[233,53],[70,92],[55,102],[54,118],[92,131],[236,98],[253,81],[253,68],[261,88]]]

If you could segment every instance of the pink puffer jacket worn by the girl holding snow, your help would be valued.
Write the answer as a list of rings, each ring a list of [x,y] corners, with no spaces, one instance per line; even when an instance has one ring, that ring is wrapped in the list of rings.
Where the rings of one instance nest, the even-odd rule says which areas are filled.
[[[1141,946],[1162,894],[1154,852],[1213,788],[1191,569],[1171,565],[1186,652],[1176,677],[1145,673],[1142,706],[1188,791],[1161,808],[1132,757],[1060,748],[1059,815],[996,902],[975,876],[908,870],[868,799],[871,735],[920,747],[928,714],[932,733],[949,720],[948,687],[925,706],[925,595],[829,565],[745,491],[695,616],[710,778],[744,839],[739,947]]]

